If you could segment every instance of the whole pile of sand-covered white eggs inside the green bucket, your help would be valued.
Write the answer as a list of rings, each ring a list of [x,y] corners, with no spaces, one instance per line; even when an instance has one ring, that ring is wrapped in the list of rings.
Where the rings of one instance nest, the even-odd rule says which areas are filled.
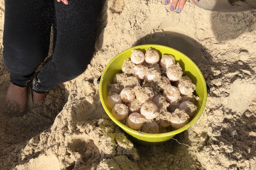
[[[133,49],[122,73],[114,76],[113,84],[108,83],[107,105],[117,120],[141,132],[181,128],[197,112],[195,84],[182,75],[172,55],[160,59],[151,48],[145,54]],[[145,128],[149,125],[151,131]]]

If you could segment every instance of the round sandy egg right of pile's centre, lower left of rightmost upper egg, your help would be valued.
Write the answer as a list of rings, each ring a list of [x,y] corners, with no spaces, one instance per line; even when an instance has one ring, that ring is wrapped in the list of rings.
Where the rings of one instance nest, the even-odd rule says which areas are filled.
[[[172,85],[165,86],[163,95],[165,96],[165,99],[170,102],[177,101],[181,97],[180,91],[178,90],[178,88]]]

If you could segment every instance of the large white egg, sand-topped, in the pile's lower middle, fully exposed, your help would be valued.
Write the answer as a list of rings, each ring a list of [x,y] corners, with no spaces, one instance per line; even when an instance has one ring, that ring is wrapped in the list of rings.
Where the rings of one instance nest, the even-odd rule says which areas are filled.
[[[150,120],[156,118],[159,113],[157,112],[157,105],[154,102],[148,102],[142,104],[140,108],[140,114],[142,117]]]

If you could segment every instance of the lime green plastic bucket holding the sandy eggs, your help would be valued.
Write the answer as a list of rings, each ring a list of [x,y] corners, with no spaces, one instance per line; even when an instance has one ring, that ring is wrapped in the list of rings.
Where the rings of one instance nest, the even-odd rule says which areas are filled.
[[[148,48],[152,48],[153,50],[156,50],[160,57],[162,55],[173,55],[175,57],[176,62],[179,62],[182,71],[184,72],[183,76],[187,75],[192,82],[196,85],[194,95],[198,96],[199,99],[196,103],[198,110],[195,116],[193,116],[189,123],[185,125],[184,127],[181,127],[180,129],[176,129],[171,132],[166,133],[159,133],[159,134],[152,134],[152,133],[143,133],[139,132],[137,130],[131,129],[121,122],[119,122],[116,118],[113,117],[111,114],[111,109],[107,106],[106,99],[108,97],[108,88],[107,83],[110,82],[110,84],[113,83],[113,77],[116,75],[116,73],[121,73],[121,67],[124,63],[124,60],[127,58],[130,58],[132,54],[132,49],[138,49],[140,51],[143,51],[143,53],[146,52]],[[201,71],[198,69],[196,64],[189,59],[186,55],[183,53],[162,45],[154,45],[154,44],[146,44],[146,45],[140,45],[135,46],[132,48],[129,48],[127,50],[122,51],[121,53],[117,54],[105,67],[104,71],[102,72],[100,83],[99,83],[99,97],[102,103],[102,106],[110,119],[113,120],[121,129],[126,132],[131,140],[139,145],[143,146],[152,146],[152,145],[161,145],[166,143],[168,140],[170,140],[172,137],[177,135],[178,133],[183,132],[184,130],[188,129],[192,124],[194,124],[197,119],[202,114],[204,107],[206,105],[206,99],[207,99],[207,88],[206,88],[206,82],[205,79],[201,73]]]

